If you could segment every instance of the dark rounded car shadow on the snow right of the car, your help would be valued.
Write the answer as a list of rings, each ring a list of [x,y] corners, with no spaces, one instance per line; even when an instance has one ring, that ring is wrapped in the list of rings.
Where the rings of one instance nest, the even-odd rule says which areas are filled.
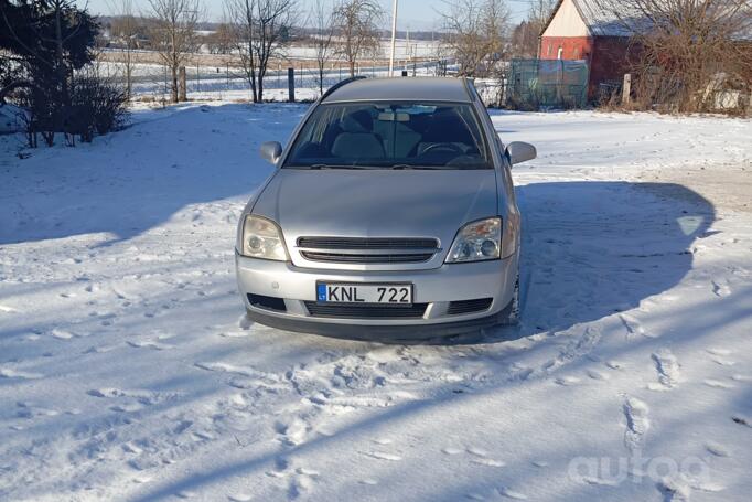
[[[692,243],[715,233],[713,205],[678,184],[530,183],[517,188],[517,199],[524,215],[520,323],[379,342],[501,343],[632,310],[679,284],[692,268]]]

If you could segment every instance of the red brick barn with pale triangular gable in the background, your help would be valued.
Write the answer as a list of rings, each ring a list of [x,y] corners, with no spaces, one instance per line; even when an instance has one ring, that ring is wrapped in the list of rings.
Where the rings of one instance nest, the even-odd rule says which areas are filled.
[[[630,32],[598,0],[559,0],[540,35],[541,60],[587,61],[588,97],[619,84],[627,67]]]

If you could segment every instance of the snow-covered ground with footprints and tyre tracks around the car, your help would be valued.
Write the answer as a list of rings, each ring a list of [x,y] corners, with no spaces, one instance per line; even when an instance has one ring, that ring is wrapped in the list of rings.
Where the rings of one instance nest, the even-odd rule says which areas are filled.
[[[0,137],[0,500],[749,500],[750,120],[495,114],[540,152],[523,324],[378,344],[243,316],[236,218],[303,111]]]

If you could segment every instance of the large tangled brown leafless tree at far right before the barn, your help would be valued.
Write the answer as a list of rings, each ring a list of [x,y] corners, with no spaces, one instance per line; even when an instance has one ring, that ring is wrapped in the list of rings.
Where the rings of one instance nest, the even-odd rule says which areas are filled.
[[[678,111],[712,109],[717,92],[752,90],[750,0],[600,0],[631,34],[638,100]]]

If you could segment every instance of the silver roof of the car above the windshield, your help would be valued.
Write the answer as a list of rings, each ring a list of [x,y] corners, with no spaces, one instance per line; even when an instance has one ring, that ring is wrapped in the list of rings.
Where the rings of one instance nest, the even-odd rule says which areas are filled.
[[[464,78],[393,77],[352,81],[324,96],[322,103],[430,100],[470,103]]]

